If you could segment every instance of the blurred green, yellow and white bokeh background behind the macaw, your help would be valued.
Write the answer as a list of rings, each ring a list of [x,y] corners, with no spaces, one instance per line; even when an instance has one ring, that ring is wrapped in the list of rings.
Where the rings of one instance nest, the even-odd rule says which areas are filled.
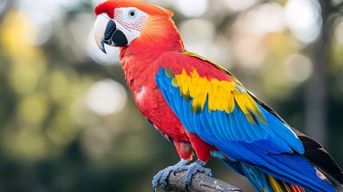
[[[151,191],[179,160],[137,110],[118,49],[96,46],[100,2],[0,0],[0,191]],[[342,1],[151,2],[175,12],[189,51],[229,69],[343,166]],[[255,191],[219,160],[208,167]]]

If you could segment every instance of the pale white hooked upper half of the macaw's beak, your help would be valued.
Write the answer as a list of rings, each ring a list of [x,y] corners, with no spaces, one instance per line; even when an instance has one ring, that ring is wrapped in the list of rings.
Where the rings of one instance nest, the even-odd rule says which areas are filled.
[[[98,47],[104,53],[106,53],[106,50],[104,49],[104,43],[107,43],[107,41],[111,40],[111,36],[113,36],[115,29],[116,26],[114,21],[107,18],[107,16],[103,16],[102,14],[98,15],[96,23],[94,23],[93,32],[94,38],[96,39],[96,45],[98,45]]]

